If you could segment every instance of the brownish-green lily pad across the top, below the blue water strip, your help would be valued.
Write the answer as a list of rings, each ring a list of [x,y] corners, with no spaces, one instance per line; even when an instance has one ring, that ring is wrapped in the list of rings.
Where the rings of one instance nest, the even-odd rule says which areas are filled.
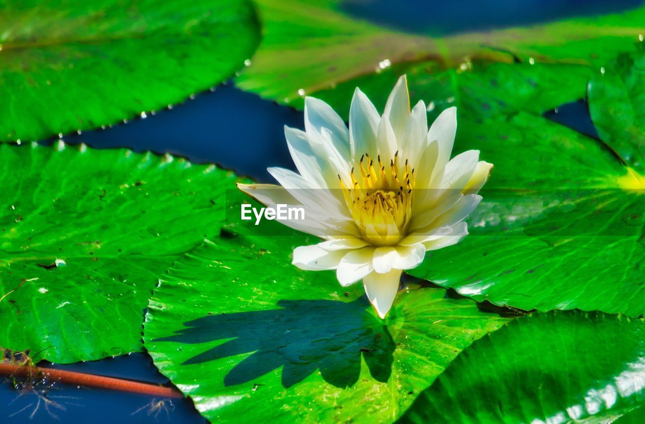
[[[264,26],[261,46],[236,83],[263,97],[303,106],[303,93],[346,86],[390,66],[424,63],[435,71],[471,62],[570,63],[602,66],[640,43],[645,8],[541,25],[430,37],[395,32],[350,17],[338,0],[257,0]],[[435,72],[433,71],[433,72]],[[568,75],[558,73],[566,85]],[[388,84],[389,92],[392,85]],[[426,99],[427,100],[427,99]],[[344,103],[332,103],[346,107]],[[341,114],[341,116],[344,116]]]

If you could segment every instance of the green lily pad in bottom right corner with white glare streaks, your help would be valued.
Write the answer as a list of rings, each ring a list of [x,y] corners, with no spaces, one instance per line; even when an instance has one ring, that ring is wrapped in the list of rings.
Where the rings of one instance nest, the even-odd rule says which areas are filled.
[[[400,422],[639,422],[645,407],[642,319],[535,313],[475,341]]]

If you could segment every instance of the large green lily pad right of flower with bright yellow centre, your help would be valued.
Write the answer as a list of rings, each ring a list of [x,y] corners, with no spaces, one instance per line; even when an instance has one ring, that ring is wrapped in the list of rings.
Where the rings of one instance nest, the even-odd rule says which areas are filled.
[[[525,310],[644,314],[638,174],[598,140],[544,117],[475,108],[461,108],[455,151],[479,149],[495,165],[484,201],[468,221],[470,236],[432,252],[411,274]]]

